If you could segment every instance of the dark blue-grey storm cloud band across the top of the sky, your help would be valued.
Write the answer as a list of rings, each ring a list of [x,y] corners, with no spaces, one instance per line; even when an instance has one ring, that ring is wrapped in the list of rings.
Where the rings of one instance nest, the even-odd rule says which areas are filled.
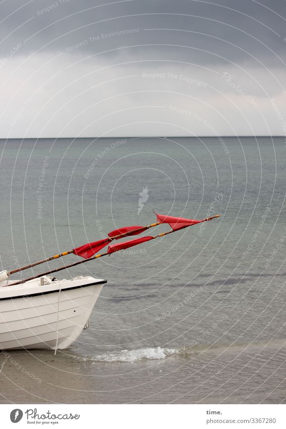
[[[40,0],[6,1],[0,8],[4,57],[21,43],[22,55],[104,52],[106,59],[132,60],[169,54],[177,61],[200,64],[260,61],[271,66],[285,60],[283,0]],[[77,44],[79,49],[74,49]]]

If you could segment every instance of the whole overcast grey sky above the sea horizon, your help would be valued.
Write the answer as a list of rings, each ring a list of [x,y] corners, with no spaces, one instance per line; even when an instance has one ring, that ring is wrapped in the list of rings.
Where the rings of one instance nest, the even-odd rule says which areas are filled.
[[[4,0],[0,137],[285,135],[285,0]]]

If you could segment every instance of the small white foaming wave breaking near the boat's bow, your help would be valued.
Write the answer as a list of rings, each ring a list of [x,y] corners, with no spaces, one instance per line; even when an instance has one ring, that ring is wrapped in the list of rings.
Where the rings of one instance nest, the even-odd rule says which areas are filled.
[[[95,356],[95,361],[100,362],[137,362],[144,359],[164,359],[178,353],[177,349],[162,347],[146,347],[137,350],[122,350],[117,353],[105,353]]]

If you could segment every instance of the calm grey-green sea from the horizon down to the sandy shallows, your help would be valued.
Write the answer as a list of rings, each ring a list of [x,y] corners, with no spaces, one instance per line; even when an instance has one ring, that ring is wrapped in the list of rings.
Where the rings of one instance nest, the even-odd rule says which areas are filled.
[[[18,380],[3,402],[285,403],[285,145],[282,137],[0,140],[3,269],[147,225],[153,210],[221,215],[57,274],[108,283],[69,350],[17,352],[43,381],[31,396],[27,377]]]

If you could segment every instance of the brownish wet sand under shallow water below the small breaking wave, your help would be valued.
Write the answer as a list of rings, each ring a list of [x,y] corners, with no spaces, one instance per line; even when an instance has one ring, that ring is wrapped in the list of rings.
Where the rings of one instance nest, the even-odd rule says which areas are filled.
[[[1,355],[2,404],[286,403],[283,342],[199,347],[163,359],[101,362],[71,351]]]

